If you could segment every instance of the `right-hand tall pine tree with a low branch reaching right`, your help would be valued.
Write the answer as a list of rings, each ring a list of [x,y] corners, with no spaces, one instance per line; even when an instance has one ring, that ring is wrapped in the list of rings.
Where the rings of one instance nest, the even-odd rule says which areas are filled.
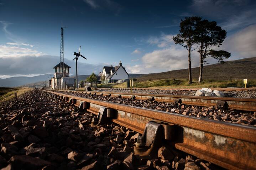
[[[200,54],[200,66],[199,66],[199,80],[202,82],[203,76],[203,64],[205,58],[213,57],[218,60],[219,63],[224,63],[224,59],[230,57],[231,53],[223,50],[213,50],[214,46],[220,47],[221,43],[226,38],[226,30],[217,26],[215,21],[208,21],[206,19],[197,23],[195,41],[199,44],[199,54]]]

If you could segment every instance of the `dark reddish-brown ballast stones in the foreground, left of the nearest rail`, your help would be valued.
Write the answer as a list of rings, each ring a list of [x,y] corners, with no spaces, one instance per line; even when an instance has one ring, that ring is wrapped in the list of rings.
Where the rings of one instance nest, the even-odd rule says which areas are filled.
[[[0,106],[0,168],[5,170],[220,169],[161,147],[157,159],[134,155],[136,132],[116,124],[92,128],[96,115],[33,90]]]

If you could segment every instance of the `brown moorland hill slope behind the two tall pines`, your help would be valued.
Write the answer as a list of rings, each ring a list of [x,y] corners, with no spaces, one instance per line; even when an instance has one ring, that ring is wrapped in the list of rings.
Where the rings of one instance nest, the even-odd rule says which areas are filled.
[[[192,68],[192,79],[198,78],[199,67]],[[256,79],[256,57],[227,61],[224,64],[211,64],[203,68],[203,79],[229,80],[235,78]],[[146,74],[137,78],[139,81],[157,79],[188,79],[188,69]]]

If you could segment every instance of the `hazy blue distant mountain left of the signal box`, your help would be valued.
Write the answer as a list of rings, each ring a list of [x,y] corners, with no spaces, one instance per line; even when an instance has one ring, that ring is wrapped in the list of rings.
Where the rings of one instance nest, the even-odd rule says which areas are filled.
[[[10,77],[6,79],[0,79],[0,87],[17,87],[23,86],[29,83],[36,83],[38,81],[47,81],[53,77],[53,74],[44,74],[34,77]]]

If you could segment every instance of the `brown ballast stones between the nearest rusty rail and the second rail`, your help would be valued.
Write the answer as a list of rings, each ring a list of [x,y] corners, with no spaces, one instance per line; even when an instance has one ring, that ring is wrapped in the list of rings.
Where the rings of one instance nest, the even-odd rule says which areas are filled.
[[[59,92],[59,91],[57,91]],[[172,112],[177,114],[189,115],[200,118],[213,119],[217,121],[225,121],[229,123],[236,123],[242,125],[249,125],[256,127],[256,112],[249,111],[237,111],[234,109],[225,110],[224,108],[214,107],[200,107],[200,106],[188,106],[188,105],[176,105],[172,103],[157,102],[157,101],[143,101],[143,100],[131,100],[129,98],[120,97],[108,97],[100,95],[89,95],[82,93],[73,93],[70,91],[61,92],[67,95],[80,96],[92,98],[95,100],[102,100],[108,102],[114,102],[119,104],[126,104],[129,106],[136,106],[142,108],[155,109],[164,112]]]

